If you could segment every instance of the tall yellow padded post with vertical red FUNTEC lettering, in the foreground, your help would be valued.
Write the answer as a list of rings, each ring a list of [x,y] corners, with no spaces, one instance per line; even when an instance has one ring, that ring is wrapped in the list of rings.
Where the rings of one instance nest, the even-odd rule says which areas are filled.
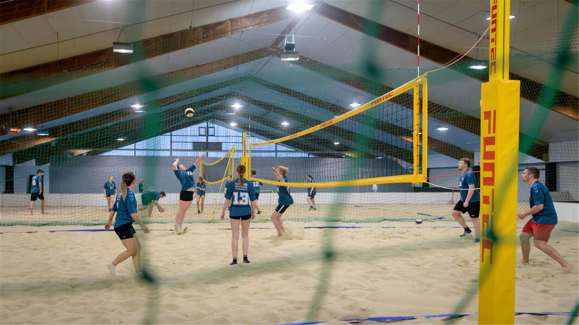
[[[520,83],[508,80],[510,0],[490,0],[489,82],[481,87],[479,324],[515,322]]]

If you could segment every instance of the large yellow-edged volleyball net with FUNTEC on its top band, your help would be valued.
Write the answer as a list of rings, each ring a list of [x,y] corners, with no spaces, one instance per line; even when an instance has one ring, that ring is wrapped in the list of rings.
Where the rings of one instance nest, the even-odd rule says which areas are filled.
[[[248,143],[247,169],[258,171],[258,175],[249,177],[250,180],[290,187],[312,187],[304,182],[306,175],[316,175],[316,187],[426,181],[426,75],[355,109],[345,111],[336,107],[312,114],[325,115],[328,119],[310,115],[312,120],[325,122],[304,130],[301,124],[307,125],[309,117],[302,115],[295,119],[301,121],[296,123],[298,125],[282,124],[297,132],[271,141]],[[267,161],[261,157],[252,158],[252,150],[255,152],[256,147],[275,150],[276,157]],[[356,158],[356,164],[344,158]],[[287,183],[268,177],[274,165],[289,169]]]

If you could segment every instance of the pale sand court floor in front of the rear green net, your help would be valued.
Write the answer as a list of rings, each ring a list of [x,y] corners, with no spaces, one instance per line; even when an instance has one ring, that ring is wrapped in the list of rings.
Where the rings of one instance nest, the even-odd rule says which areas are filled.
[[[101,228],[80,226],[13,226],[0,234],[1,323],[142,323],[274,324],[304,322],[317,286],[323,288],[314,320],[451,313],[471,298],[462,312],[476,312],[478,246],[459,238],[453,223],[351,224],[370,228],[317,229],[323,223],[288,223],[291,239],[273,237],[271,229],[250,231],[251,264],[230,261],[227,224],[188,224],[185,235],[152,224],[151,234],[138,231],[142,256],[159,286],[134,278],[130,260],[109,275],[105,264],[123,250],[113,231],[48,232]],[[333,223],[332,226],[346,224]],[[396,228],[381,228],[394,226]],[[253,223],[252,227],[272,227]],[[522,223],[519,221],[519,227]],[[139,228],[136,226],[135,228]],[[562,222],[551,245],[579,265],[577,224]],[[520,230],[519,230],[520,231]],[[324,264],[321,248],[329,242],[335,256]],[[520,258],[517,248],[517,258]],[[241,252],[240,252],[241,256]],[[320,272],[329,274],[320,282]],[[562,274],[559,265],[532,248],[531,264],[517,265],[516,311],[570,311],[577,302],[577,268]],[[148,318],[146,318],[148,317]],[[519,324],[563,324],[567,316],[515,317]],[[376,323],[376,322],[363,322]],[[397,323],[443,323],[442,318]],[[475,324],[477,316],[457,323]],[[577,320],[575,321],[577,323]]]

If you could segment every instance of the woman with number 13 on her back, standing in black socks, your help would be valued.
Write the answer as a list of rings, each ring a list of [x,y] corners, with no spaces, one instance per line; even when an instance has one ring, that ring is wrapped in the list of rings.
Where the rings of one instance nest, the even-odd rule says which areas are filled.
[[[229,210],[229,223],[231,224],[231,251],[233,261],[229,265],[237,264],[240,220],[243,263],[250,263],[250,260],[247,259],[247,253],[250,247],[250,223],[251,220],[254,220],[255,218],[255,209],[257,208],[253,183],[243,178],[243,175],[245,175],[245,166],[238,165],[236,171],[237,182],[232,181],[227,185],[227,189],[225,190],[225,202],[223,202],[223,208],[221,209],[221,219],[225,219],[225,209],[229,206],[229,201],[232,202]]]

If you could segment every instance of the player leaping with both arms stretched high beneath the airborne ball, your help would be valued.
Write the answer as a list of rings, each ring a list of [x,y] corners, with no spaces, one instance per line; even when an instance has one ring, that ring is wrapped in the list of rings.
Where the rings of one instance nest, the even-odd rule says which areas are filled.
[[[193,194],[195,194],[195,178],[193,177],[193,172],[201,162],[201,159],[205,157],[205,153],[201,154],[193,165],[190,165],[189,168],[186,168],[184,164],[179,164],[179,158],[175,158],[175,162],[173,162],[173,172],[179,182],[181,182],[181,194],[179,194],[179,210],[175,215],[175,232],[177,234],[185,233],[187,230],[183,230],[183,220],[185,219],[185,213],[191,206],[193,201]]]

